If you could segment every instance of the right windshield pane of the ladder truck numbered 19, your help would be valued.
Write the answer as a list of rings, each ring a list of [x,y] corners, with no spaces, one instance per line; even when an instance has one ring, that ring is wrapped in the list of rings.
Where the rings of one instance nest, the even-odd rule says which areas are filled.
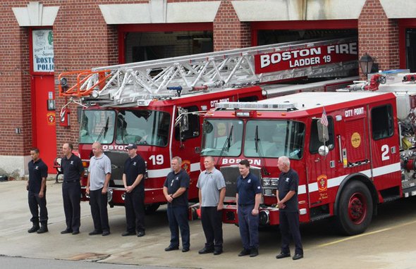
[[[118,111],[116,143],[166,146],[171,115],[162,111]]]

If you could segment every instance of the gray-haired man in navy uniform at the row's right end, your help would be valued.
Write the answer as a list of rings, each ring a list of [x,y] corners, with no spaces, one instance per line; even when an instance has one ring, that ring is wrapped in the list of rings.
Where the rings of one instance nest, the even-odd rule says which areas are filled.
[[[302,242],[299,231],[298,186],[299,177],[295,170],[290,168],[290,160],[281,156],[277,162],[281,174],[277,185],[277,206],[279,207],[279,229],[281,232],[281,253],[276,258],[290,256],[290,233],[295,242],[295,255],[293,260],[303,258]]]

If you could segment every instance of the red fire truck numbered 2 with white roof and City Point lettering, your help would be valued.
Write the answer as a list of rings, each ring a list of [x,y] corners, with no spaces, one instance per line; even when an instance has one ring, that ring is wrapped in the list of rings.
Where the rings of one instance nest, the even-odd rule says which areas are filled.
[[[279,224],[279,156],[288,156],[299,174],[302,223],[335,216],[342,232],[359,234],[377,204],[416,195],[416,85],[410,77],[377,74],[377,87],[216,104],[204,117],[201,155],[214,156],[226,179],[224,222],[238,223],[235,184],[242,159],[262,180],[261,225]],[[328,125],[321,123],[325,117]]]

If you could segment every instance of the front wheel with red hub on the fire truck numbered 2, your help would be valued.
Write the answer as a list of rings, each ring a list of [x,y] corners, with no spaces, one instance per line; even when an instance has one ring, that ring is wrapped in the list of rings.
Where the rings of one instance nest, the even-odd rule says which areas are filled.
[[[362,182],[350,182],[338,202],[338,228],[344,234],[360,234],[367,229],[372,215],[373,201],[369,189]]]

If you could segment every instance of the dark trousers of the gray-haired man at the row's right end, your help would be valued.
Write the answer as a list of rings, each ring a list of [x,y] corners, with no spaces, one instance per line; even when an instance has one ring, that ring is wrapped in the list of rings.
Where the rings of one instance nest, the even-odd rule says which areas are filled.
[[[299,213],[280,211],[279,222],[279,229],[281,232],[281,252],[290,253],[289,243],[291,233],[293,242],[295,243],[295,254],[303,254],[299,231]]]

